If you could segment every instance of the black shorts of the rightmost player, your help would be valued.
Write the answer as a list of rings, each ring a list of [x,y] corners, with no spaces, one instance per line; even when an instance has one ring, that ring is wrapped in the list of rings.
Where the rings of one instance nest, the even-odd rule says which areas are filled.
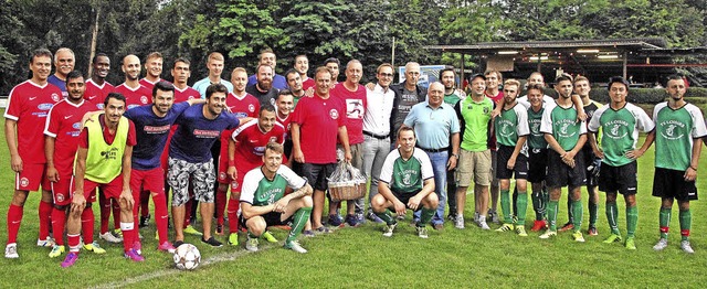
[[[603,169],[603,168],[602,168]],[[653,196],[675,199],[677,201],[697,200],[695,181],[685,181],[685,171],[655,168],[653,175]]]

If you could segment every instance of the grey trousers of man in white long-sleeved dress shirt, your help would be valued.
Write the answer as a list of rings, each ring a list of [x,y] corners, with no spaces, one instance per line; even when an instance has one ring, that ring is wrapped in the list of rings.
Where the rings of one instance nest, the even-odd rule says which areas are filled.
[[[383,168],[386,157],[390,152],[390,138],[377,139],[363,135],[363,174],[371,178],[371,186],[368,191],[368,204],[370,208],[371,200],[378,194],[378,180]],[[358,211],[358,205],[356,206]],[[372,212],[372,210],[370,211]],[[359,212],[357,212],[359,213]]]

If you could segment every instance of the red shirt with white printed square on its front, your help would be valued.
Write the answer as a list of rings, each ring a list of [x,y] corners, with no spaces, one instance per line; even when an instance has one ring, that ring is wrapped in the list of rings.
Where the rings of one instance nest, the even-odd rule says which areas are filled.
[[[349,135],[349,144],[363,142],[363,115],[366,115],[366,87],[358,85],[356,92],[351,92],[337,84],[330,92],[333,97],[340,98],[346,105],[346,130]]]

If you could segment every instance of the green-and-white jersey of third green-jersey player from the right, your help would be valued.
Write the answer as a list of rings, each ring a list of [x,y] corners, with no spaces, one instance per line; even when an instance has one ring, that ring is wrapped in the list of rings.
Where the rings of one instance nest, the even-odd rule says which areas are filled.
[[[557,103],[556,103],[557,104]],[[577,121],[574,106],[563,108],[559,105],[546,108],[540,122],[540,132],[552,135],[563,150],[572,150],[579,137],[587,133],[584,121]]]

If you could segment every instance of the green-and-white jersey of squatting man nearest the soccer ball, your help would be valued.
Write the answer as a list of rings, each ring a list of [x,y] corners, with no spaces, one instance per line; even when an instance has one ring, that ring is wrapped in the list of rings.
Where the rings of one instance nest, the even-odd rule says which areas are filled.
[[[241,202],[254,206],[266,206],[283,199],[287,186],[297,191],[307,184],[307,180],[297,175],[286,165],[279,165],[275,178],[268,180],[261,167],[249,171],[241,186]]]

